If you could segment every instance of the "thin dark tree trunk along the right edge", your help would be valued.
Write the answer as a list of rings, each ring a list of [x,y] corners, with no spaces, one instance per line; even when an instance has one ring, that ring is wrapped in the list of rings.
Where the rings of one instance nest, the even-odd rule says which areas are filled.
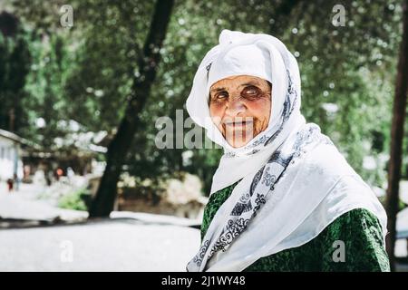
[[[398,190],[401,178],[403,155],[403,123],[406,111],[408,83],[408,0],[403,3],[403,37],[400,47],[395,95],[393,101],[393,124],[391,129],[391,152],[388,166],[388,189],[386,209],[388,215],[387,253],[391,269],[394,270],[394,247],[396,238],[396,216],[398,213]]]

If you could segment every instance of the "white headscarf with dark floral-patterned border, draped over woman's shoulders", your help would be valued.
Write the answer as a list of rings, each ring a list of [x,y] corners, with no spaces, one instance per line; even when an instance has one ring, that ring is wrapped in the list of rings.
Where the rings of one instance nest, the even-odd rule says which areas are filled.
[[[209,116],[209,88],[232,75],[272,82],[265,131],[231,147]],[[210,194],[238,180],[219,208],[188,271],[241,271],[258,258],[299,247],[354,208],[370,210],[386,234],[384,208],[335,146],[300,112],[300,76],[284,43],[223,30],[199,64],[186,102],[190,117],[224,149]]]

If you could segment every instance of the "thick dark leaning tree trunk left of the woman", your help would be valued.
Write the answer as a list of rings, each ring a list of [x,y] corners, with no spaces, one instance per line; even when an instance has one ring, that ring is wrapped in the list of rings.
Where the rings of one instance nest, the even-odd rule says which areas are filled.
[[[139,58],[140,76],[132,75],[131,96],[116,135],[109,144],[106,169],[92,202],[90,218],[109,217],[117,193],[121,167],[131,147],[135,132],[140,129],[139,113],[150,95],[174,0],[158,0],[154,8],[151,27]]]

